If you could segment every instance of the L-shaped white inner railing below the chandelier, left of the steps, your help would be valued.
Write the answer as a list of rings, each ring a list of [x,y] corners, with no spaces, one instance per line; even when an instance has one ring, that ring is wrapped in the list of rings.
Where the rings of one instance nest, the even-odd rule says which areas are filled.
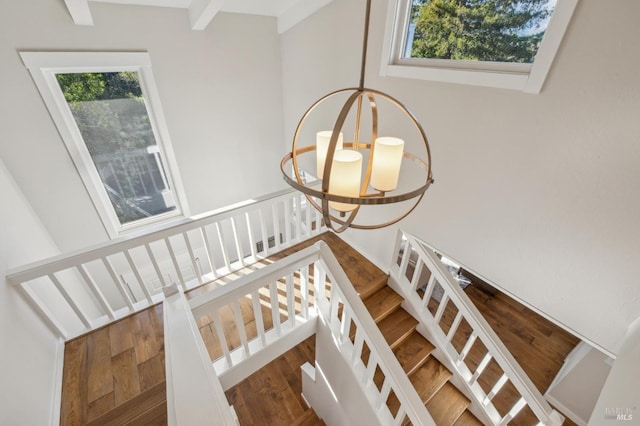
[[[324,242],[198,296],[190,305],[200,321],[204,315],[212,320],[209,338],[220,348],[213,364],[225,389],[313,335],[316,327],[327,326],[381,424],[408,419],[435,425]],[[253,320],[245,324],[242,313]],[[392,394],[395,404],[389,403]]]

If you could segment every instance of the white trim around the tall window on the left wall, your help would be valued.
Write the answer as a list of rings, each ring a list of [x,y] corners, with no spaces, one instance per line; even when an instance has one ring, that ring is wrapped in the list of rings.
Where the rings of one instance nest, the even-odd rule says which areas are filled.
[[[20,52],[20,56],[40,91],[110,238],[189,214],[184,188],[178,173],[178,164],[171,147],[169,130],[147,52]],[[59,73],[119,71],[135,71],[140,77],[140,88],[147,104],[151,127],[162,152],[167,180],[176,198],[175,210],[127,224],[120,223],[113,209],[56,79],[56,74]]]

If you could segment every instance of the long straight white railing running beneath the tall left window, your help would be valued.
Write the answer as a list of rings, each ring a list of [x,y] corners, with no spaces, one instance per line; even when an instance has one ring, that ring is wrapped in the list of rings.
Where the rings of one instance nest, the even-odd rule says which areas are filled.
[[[304,196],[282,191],[9,271],[34,309],[70,339],[323,232]]]

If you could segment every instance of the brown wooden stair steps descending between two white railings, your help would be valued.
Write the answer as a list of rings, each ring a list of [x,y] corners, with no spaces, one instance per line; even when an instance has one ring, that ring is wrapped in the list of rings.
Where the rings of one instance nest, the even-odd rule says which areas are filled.
[[[469,400],[449,382],[451,372],[431,356],[434,346],[416,331],[418,321],[402,309],[402,301],[385,285],[366,297],[364,304],[436,424],[482,425],[467,411]],[[387,404],[391,411],[397,410],[393,396]]]

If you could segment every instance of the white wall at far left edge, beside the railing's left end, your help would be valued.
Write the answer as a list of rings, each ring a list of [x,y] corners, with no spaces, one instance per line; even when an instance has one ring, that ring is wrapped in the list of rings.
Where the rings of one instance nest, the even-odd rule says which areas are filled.
[[[9,268],[57,249],[1,160],[0,194],[0,424],[55,424],[59,407],[52,398],[63,345],[4,277]]]

